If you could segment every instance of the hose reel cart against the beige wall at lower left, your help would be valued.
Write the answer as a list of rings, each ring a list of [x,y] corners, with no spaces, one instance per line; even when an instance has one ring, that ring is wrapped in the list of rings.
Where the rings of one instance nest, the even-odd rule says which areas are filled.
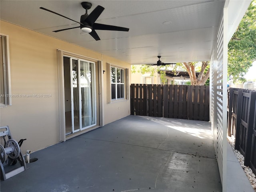
[[[8,126],[0,127],[0,137],[4,140],[4,146],[0,144],[1,179],[6,180],[26,170],[26,162],[20,152],[20,146],[26,139],[14,140]]]

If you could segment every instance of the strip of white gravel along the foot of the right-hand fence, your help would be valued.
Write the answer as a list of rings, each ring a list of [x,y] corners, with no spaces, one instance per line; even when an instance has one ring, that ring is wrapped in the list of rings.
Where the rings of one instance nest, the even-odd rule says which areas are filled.
[[[248,179],[249,179],[249,181],[252,185],[252,188],[256,192],[256,176],[252,172],[252,169],[249,166],[244,166],[244,156],[240,153],[240,151],[235,150],[235,138],[234,137],[228,137],[228,142],[229,142],[232,150],[234,151],[234,154],[236,155],[236,158],[240,162],[240,165],[242,166],[246,176],[248,177]]]

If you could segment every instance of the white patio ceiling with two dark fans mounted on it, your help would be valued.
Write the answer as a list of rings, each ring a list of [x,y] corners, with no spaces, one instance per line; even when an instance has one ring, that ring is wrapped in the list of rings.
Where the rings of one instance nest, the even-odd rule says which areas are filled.
[[[118,58],[131,64],[210,60],[223,0],[88,0],[105,8],[97,23],[130,28],[96,30],[101,40],[81,34],[76,22],[39,9],[44,7],[80,22],[82,0],[1,0],[0,19]],[[170,22],[164,25],[163,22]]]

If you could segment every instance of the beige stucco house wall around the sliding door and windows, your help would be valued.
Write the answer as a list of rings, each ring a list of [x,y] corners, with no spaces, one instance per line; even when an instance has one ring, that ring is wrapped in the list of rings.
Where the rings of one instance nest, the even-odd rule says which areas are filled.
[[[130,64],[98,52],[0,21],[0,33],[9,36],[12,106],[0,108],[0,126],[8,125],[15,140],[26,138],[21,150],[40,150],[59,142],[58,65],[56,49],[129,68]],[[103,124],[130,114],[130,100],[107,104],[106,73],[103,74]],[[25,97],[49,94],[50,97]]]

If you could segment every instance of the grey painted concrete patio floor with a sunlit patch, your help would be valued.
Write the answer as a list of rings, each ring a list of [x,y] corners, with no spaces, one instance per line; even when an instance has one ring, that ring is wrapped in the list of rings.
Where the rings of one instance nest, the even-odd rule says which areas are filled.
[[[127,116],[34,152],[1,192],[221,192],[210,123]]]

